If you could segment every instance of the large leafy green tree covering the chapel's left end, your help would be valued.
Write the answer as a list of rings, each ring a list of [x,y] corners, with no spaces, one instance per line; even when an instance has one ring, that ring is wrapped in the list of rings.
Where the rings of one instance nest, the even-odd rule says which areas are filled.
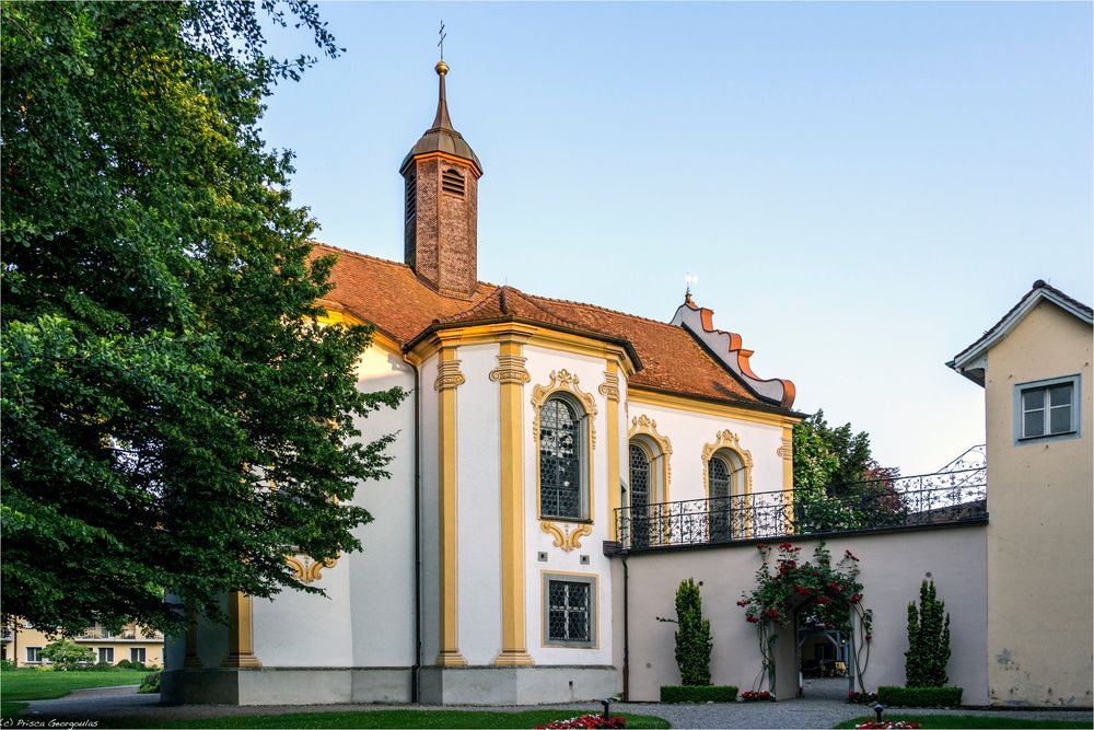
[[[2,590],[8,621],[171,631],[164,588],[269,596],[284,554],[360,547],[363,327],[319,327],[333,262],[263,100],[303,0],[2,3]],[[264,12],[264,10],[266,12]],[[264,21],[264,19],[267,19]]]

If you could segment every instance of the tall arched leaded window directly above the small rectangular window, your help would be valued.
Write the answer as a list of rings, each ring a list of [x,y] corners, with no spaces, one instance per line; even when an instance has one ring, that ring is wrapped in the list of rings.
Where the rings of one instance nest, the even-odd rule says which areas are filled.
[[[581,519],[581,420],[563,398],[539,412],[539,513]]]

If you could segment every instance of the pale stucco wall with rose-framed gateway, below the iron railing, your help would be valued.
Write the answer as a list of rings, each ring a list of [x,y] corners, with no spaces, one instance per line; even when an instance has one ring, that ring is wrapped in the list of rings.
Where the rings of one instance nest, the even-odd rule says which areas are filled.
[[[930,577],[951,616],[952,656],[950,684],[964,687],[963,702],[988,702],[986,528],[928,529],[898,533],[833,537],[828,549],[834,563],[850,549],[860,558],[863,605],[873,611],[873,641],[865,673],[869,691],[880,685],[903,685],[904,652],[908,649],[908,603],[919,598],[920,581]],[[802,558],[812,559],[816,541],[801,540]],[[674,626],[657,616],[675,618],[675,595],[686,578],[701,581],[703,616],[713,635],[711,675],[714,684],[752,688],[760,665],[756,629],[736,605],[744,591],[755,588],[760,557],[755,544],[635,554],[628,558],[630,697],[656,700],[660,687],[679,684],[674,658]],[[621,578],[621,564],[617,567]],[[617,580],[616,612],[622,612],[621,579]],[[622,621],[617,616],[617,641]],[[780,644],[792,639],[792,629]],[[621,651],[618,652],[621,664]],[[798,668],[779,667],[796,675]],[[782,676],[782,674],[780,674]]]

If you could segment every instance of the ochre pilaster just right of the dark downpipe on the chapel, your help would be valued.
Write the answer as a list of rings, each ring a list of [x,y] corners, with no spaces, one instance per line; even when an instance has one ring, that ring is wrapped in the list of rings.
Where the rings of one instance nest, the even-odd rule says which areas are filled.
[[[438,352],[437,380],[433,390],[438,392],[438,537],[440,540],[440,646],[437,663],[442,667],[462,667],[467,663],[459,653],[459,626],[457,609],[456,572],[456,389],[464,383],[456,359],[456,347],[443,343]]]

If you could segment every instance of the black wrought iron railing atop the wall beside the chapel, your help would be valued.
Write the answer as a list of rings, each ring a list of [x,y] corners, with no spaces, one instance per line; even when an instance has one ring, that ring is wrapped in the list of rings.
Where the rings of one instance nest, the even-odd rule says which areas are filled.
[[[987,515],[986,471],[978,466],[817,490],[622,507],[615,517],[622,547],[641,551],[974,522]]]

